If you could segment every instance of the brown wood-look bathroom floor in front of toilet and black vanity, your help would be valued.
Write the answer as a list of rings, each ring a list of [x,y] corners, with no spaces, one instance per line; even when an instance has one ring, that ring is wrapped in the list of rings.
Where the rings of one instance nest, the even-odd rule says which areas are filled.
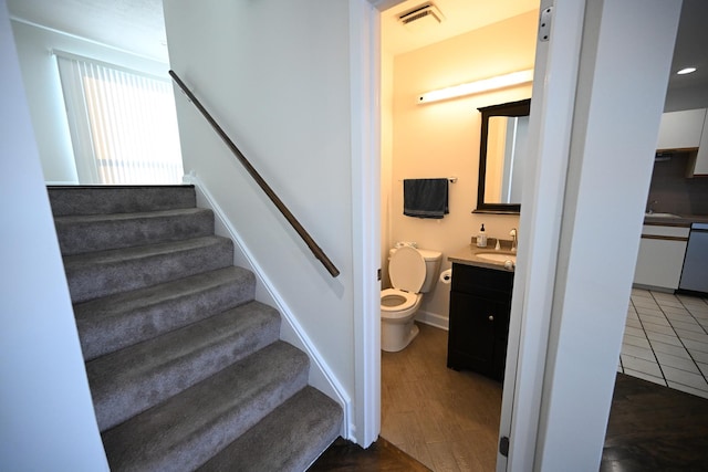
[[[447,332],[418,324],[382,353],[381,436],[435,471],[489,471],[497,460],[501,384],[447,368]]]

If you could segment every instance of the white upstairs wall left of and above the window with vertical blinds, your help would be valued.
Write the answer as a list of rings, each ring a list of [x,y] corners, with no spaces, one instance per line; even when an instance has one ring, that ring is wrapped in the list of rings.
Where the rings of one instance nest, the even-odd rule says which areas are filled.
[[[12,21],[27,101],[48,183],[80,183],[53,50],[167,77],[168,66],[82,38]]]

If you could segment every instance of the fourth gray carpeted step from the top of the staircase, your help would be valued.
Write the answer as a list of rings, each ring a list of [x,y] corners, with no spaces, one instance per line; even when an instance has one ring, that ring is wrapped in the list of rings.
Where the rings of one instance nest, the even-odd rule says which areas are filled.
[[[74,305],[85,360],[150,339],[253,298],[251,271],[230,266]]]

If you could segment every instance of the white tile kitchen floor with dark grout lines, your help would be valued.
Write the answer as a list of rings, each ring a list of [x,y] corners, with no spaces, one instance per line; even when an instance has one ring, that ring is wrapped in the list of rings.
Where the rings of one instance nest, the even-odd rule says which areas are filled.
[[[617,370],[708,398],[708,298],[632,290]]]

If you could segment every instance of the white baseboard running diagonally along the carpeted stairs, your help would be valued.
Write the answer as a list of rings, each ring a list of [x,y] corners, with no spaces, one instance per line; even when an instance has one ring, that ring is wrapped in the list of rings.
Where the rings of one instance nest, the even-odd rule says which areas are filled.
[[[233,263],[249,269],[256,275],[256,300],[267,305],[275,307],[283,319],[280,327],[280,338],[303,350],[310,357],[309,384],[330,398],[335,400],[344,411],[344,422],[341,436],[346,439],[354,438],[354,423],[352,416],[352,400],[342,385],[334,376],[327,364],[324,361],[317,348],[313,345],[302,326],[293,315],[292,311],[284,303],[278,291],[270,283],[270,279],[263,274],[260,265],[243,243],[238,231],[226,218],[223,211],[216,202],[211,193],[205,188],[204,182],[190,172],[185,175],[184,182],[194,185],[197,191],[197,206],[209,208],[215,214],[215,233],[233,241]]]

